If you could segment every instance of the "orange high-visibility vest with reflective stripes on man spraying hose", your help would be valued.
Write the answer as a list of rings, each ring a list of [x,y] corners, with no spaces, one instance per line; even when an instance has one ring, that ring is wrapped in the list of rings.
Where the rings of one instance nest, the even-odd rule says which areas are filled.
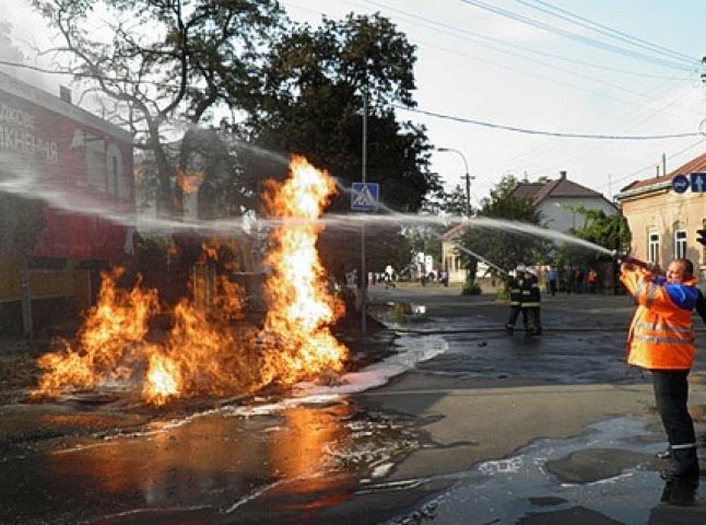
[[[664,287],[643,270],[624,271],[621,281],[637,302],[627,335],[627,362],[649,370],[690,370],[695,350],[692,308],[676,305]]]

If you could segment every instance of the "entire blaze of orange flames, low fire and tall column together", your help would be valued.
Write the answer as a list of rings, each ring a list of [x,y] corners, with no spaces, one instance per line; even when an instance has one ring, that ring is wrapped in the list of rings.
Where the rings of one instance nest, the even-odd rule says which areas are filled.
[[[140,282],[120,289],[122,270],[113,269],[103,275],[97,303],[75,342],[61,341],[39,358],[44,373],[33,397],[119,387],[139,389],[146,402],[160,406],[170,398],[247,394],[340,372],[348,349],[330,326],[343,315],[343,304],[328,293],[315,246],[322,228],[315,220],[334,191],[332,178],[299,156],[292,159],[283,184],[269,184],[266,211],[282,222],[271,233],[266,259],[272,271],[264,282],[261,329],[242,323],[243,292],[221,276],[208,313],[183,299],[170,312],[168,334],[150,338],[150,322],[161,313],[157,292]]]

